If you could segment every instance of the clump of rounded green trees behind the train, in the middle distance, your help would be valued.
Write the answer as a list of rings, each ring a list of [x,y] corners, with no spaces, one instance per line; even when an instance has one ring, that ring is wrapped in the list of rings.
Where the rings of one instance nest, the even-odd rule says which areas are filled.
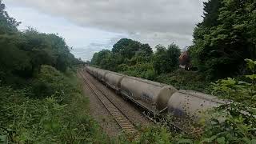
[[[172,43],[168,49],[157,46],[153,54],[148,44],[123,38],[114,44],[112,51],[101,50],[94,54],[91,64],[102,69],[116,71],[134,77],[154,80],[157,74],[169,73],[178,69],[181,54]]]

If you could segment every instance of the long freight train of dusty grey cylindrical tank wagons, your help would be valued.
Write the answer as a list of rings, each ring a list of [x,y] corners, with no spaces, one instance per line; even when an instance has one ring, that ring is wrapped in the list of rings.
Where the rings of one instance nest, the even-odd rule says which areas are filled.
[[[171,113],[179,117],[201,118],[204,111],[225,104],[209,94],[177,90],[160,82],[130,77],[109,70],[86,66],[85,70],[98,81],[110,86],[124,98],[154,115]]]

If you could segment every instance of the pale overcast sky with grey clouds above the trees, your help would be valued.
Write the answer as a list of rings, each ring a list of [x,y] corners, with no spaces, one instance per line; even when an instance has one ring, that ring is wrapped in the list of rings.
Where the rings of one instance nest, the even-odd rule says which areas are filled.
[[[58,33],[77,58],[111,49],[120,38],[190,46],[206,0],[3,0],[10,16],[40,32]]]

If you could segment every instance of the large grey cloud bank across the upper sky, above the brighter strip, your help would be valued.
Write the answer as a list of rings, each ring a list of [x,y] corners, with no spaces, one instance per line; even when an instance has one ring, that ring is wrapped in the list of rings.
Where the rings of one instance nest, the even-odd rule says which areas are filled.
[[[78,26],[127,34],[155,46],[191,44],[202,20],[203,0],[8,0],[44,14],[66,18]]]

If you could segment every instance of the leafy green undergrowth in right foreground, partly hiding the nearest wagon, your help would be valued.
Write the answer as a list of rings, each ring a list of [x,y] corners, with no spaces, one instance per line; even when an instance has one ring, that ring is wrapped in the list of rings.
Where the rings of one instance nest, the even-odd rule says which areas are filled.
[[[203,120],[198,133],[176,134],[160,123],[142,130],[135,140],[122,137],[122,143],[256,143],[256,61],[246,59],[252,72],[245,75],[246,82],[235,78],[212,82],[212,93],[226,99],[226,103]],[[181,80],[181,82],[186,82]],[[240,79],[240,78],[239,78]],[[168,81],[168,80],[166,80]]]

